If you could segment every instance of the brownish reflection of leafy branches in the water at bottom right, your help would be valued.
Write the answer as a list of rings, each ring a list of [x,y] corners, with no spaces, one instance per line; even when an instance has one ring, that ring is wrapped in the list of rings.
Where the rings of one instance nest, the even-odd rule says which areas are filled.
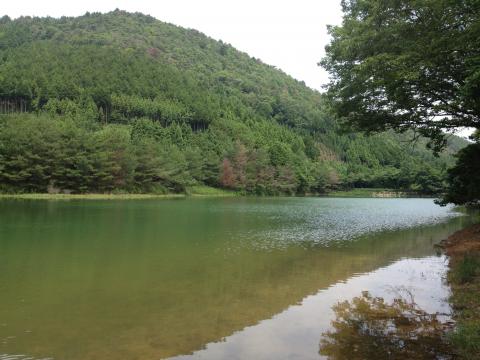
[[[320,354],[329,359],[452,359],[448,325],[411,301],[386,303],[368,292],[333,307],[334,330],[323,334]]]

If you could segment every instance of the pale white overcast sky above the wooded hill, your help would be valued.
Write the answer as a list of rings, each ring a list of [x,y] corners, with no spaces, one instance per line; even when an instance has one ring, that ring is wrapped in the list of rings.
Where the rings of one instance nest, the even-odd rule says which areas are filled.
[[[328,42],[326,25],[341,21],[340,0],[5,0],[0,14],[60,17],[115,8],[197,29],[315,89],[328,80],[317,66]]]

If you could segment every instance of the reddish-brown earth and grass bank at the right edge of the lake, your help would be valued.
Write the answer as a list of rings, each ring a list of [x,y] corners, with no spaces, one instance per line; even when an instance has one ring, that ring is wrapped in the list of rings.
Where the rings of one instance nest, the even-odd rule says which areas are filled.
[[[459,230],[440,246],[449,258],[448,299],[455,330],[449,334],[462,359],[477,359],[480,352],[480,223]]]

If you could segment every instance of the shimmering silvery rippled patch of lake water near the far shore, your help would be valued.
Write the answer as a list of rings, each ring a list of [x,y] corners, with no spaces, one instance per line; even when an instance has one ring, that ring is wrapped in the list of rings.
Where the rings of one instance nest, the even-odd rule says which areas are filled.
[[[222,204],[212,211],[238,213],[239,217],[261,217],[264,230],[232,230],[230,236],[243,246],[278,249],[293,243],[329,246],[358,236],[443,222],[460,216],[452,207],[440,207],[433,199],[265,199],[252,206]],[[287,201],[286,201],[287,200]],[[267,220],[267,221],[265,221]],[[232,245],[232,244],[231,244]],[[240,246],[242,246],[240,245]]]

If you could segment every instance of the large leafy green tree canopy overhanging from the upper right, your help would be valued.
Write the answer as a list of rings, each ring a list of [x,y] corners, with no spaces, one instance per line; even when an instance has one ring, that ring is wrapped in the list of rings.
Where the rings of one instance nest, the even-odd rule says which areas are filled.
[[[480,1],[343,0],[321,65],[338,116],[361,130],[480,128]]]

